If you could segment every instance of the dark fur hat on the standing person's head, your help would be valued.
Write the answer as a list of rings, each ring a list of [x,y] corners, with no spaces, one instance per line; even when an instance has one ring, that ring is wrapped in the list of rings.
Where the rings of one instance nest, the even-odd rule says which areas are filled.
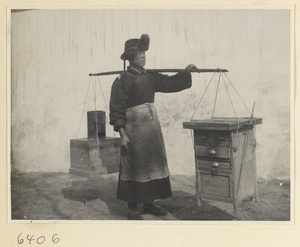
[[[148,34],[142,34],[140,39],[129,39],[125,42],[124,53],[121,55],[122,60],[132,60],[139,51],[148,51],[150,38]]]

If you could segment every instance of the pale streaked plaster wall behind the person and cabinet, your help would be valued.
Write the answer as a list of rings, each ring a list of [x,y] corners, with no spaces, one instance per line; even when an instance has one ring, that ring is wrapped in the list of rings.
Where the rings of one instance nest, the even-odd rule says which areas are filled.
[[[104,100],[97,79],[89,73],[122,70],[124,42],[147,33],[151,41],[146,68],[184,68],[194,63],[199,68],[229,70],[227,75],[248,108],[255,101],[254,116],[263,118],[256,128],[258,176],[289,178],[290,32],[289,10],[13,13],[13,167],[28,172],[68,171],[69,140],[77,138],[78,131],[79,138],[86,137],[86,111],[94,109],[93,83],[97,108],[106,110],[116,77],[99,77]],[[193,74],[191,89],[156,95],[171,173],[194,174],[191,134],[182,122],[192,117],[211,77]],[[215,86],[194,119],[210,117],[214,97]],[[238,115],[250,116],[239,98],[232,97]],[[231,109],[228,96],[220,94],[215,116],[234,116]],[[114,135],[108,124],[107,135]]]

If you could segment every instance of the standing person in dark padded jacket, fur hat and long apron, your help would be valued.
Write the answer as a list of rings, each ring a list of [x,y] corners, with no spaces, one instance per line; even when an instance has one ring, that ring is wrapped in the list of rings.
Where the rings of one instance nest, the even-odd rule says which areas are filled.
[[[169,169],[161,126],[154,107],[156,92],[172,93],[190,88],[191,69],[174,76],[150,73],[144,69],[145,51],[149,36],[125,42],[121,59],[129,61],[124,71],[114,81],[110,98],[110,124],[121,137],[121,165],[117,198],[126,201],[128,219],[142,219],[142,213],[166,215],[167,211],[154,204],[156,199],[171,197]]]

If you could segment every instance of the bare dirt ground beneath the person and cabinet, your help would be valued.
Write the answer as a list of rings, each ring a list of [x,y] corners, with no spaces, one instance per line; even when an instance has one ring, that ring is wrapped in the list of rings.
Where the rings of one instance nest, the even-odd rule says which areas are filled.
[[[118,174],[83,178],[68,173],[12,173],[12,220],[127,220],[127,205],[116,199]],[[173,196],[157,203],[164,217],[143,215],[144,220],[289,221],[290,183],[258,181],[258,202],[239,204],[195,199],[195,177],[171,176]]]

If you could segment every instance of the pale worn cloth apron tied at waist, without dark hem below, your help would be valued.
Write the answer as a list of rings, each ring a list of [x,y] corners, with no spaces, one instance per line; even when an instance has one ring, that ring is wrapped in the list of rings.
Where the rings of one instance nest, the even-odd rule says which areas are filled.
[[[169,176],[159,119],[152,103],[126,110],[129,149],[121,152],[120,179],[148,182]]]

